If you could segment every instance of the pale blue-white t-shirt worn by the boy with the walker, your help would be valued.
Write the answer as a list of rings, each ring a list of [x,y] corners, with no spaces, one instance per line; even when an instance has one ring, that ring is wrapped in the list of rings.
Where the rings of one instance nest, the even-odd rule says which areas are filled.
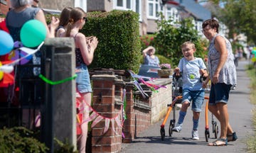
[[[182,73],[182,89],[191,91],[204,90],[202,88],[199,70],[206,69],[206,64],[204,64],[201,58],[195,57],[195,60],[188,61],[183,57],[178,63],[178,68]]]

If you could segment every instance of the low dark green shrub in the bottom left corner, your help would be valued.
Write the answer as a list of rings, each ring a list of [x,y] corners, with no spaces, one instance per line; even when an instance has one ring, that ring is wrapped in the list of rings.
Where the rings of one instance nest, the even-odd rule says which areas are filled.
[[[0,130],[0,152],[47,152],[48,148],[39,142],[36,134],[26,128],[4,128]]]

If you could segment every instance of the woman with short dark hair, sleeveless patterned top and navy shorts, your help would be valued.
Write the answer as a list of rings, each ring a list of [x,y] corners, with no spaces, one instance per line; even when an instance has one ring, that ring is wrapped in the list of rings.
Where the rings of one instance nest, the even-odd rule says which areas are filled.
[[[228,97],[231,86],[237,84],[232,47],[227,38],[218,34],[219,23],[215,19],[203,22],[203,34],[210,41],[208,47],[209,77],[203,84],[206,87],[210,80],[209,110],[220,121],[220,138],[210,146],[228,145],[238,139],[228,121]]]

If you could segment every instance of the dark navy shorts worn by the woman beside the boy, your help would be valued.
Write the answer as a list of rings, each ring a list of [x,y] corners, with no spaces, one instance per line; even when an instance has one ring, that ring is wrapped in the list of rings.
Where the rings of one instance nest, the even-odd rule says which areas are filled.
[[[228,103],[230,89],[230,84],[211,84],[209,105],[216,105],[216,103]]]

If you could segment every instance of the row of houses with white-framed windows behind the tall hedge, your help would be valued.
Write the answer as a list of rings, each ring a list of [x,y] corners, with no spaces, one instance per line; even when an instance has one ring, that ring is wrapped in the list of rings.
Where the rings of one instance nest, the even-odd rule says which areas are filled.
[[[87,12],[132,10],[139,13],[140,35],[156,32],[159,11],[166,16],[166,19],[172,17],[174,22],[188,16],[193,17],[198,33],[201,33],[202,22],[211,17],[210,11],[193,0],[40,0],[39,6],[59,11],[65,6],[79,6]]]

